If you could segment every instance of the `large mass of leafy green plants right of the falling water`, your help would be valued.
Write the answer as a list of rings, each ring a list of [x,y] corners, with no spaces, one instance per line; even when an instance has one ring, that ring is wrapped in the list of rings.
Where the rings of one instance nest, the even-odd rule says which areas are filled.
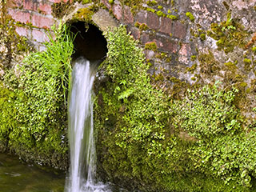
[[[234,106],[238,90],[216,82],[174,99],[152,86],[145,56],[123,26],[105,35],[107,81],[96,90],[94,123],[107,177],[145,191],[252,191],[256,132]],[[211,53],[198,60],[218,65]]]

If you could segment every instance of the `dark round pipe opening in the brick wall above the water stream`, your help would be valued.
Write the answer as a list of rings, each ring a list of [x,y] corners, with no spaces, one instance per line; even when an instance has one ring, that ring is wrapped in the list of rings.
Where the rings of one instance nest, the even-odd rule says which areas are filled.
[[[106,57],[106,38],[97,26],[86,22],[74,22],[70,31],[77,34],[74,38],[74,59],[83,56],[90,61],[96,61]]]

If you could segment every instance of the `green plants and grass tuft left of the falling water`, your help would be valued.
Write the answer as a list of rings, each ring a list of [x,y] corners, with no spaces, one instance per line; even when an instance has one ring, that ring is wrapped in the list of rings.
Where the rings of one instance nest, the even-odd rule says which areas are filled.
[[[66,95],[70,81],[73,40],[66,26],[46,51],[32,53],[17,69],[6,71],[0,89],[1,149],[26,161],[66,169]],[[10,112],[12,111],[12,112]]]

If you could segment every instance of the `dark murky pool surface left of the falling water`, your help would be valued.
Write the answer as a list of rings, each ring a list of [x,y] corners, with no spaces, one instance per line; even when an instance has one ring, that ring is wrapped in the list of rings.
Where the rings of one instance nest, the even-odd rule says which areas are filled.
[[[64,171],[25,164],[15,156],[0,154],[2,192],[63,192],[65,178]]]

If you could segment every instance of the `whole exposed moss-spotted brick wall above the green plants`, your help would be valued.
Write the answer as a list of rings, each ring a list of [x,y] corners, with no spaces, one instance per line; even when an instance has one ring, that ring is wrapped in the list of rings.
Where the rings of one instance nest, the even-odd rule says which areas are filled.
[[[181,82],[187,88],[219,80],[222,86],[241,90],[242,101],[237,105],[246,116],[254,117],[249,111],[255,107],[256,93],[255,0],[145,0],[133,1],[134,5],[118,0],[93,2],[108,15],[106,20],[99,19],[98,26],[103,29],[109,25],[104,23],[109,23],[112,15],[145,48],[156,85],[165,85],[162,89],[172,95],[179,92],[176,97],[182,97]],[[82,2],[67,0],[8,3],[9,14],[18,22],[17,33],[29,38],[39,50],[48,39],[46,30],[59,21],[53,16],[54,3],[66,3],[75,11],[82,7]],[[64,18],[72,20],[67,14]]]

